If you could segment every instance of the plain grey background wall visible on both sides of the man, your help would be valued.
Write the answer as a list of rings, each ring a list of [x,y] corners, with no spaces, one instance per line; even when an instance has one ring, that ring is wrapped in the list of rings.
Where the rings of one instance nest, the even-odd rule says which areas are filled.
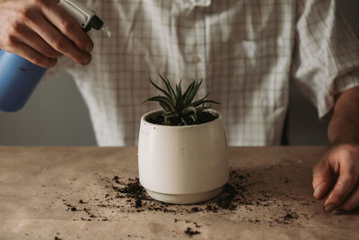
[[[359,36],[359,1],[337,2]],[[317,110],[293,84],[290,95],[289,145],[326,145],[328,123],[318,120]],[[0,145],[96,145],[89,113],[71,76],[42,81],[22,111],[0,112]]]

